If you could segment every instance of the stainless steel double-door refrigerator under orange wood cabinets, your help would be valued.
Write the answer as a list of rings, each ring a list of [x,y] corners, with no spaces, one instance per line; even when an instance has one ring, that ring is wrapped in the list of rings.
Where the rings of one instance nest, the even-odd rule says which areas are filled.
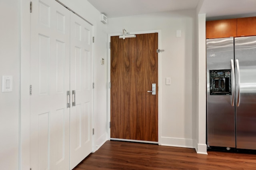
[[[207,145],[256,150],[256,36],[206,40]]]

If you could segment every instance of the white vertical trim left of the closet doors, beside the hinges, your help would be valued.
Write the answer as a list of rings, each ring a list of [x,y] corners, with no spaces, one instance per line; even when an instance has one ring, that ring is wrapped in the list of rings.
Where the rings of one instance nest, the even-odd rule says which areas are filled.
[[[19,170],[30,168],[30,0],[20,1]]]

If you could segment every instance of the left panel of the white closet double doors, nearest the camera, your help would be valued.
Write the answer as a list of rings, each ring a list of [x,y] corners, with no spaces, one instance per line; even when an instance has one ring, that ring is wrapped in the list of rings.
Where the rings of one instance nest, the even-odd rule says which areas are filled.
[[[70,11],[33,1],[31,13],[30,159],[32,170],[68,170]]]

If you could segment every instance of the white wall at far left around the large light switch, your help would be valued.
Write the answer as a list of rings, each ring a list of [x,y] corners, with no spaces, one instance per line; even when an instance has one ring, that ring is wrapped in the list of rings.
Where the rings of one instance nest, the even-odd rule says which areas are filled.
[[[0,169],[18,170],[20,99],[19,0],[0,1]],[[13,90],[2,93],[2,75]]]

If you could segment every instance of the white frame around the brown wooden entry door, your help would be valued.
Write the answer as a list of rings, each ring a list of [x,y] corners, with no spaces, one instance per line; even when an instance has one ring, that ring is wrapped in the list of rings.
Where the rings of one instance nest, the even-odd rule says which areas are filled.
[[[161,49],[161,30],[150,30],[141,32],[130,32],[130,34],[149,34],[158,33],[158,48]],[[121,36],[120,33],[108,34],[108,44],[110,44],[111,36]],[[161,53],[158,53],[158,145],[161,145]],[[108,134],[107,138],[110,140],[110,47],[108,47]],[[127,140],[138,141],[138,140]],[[140,141],[138,141],[140,142]],[[145,141],[143,141],[145,142]],[[151,142],[149,142],[151,143]]]

